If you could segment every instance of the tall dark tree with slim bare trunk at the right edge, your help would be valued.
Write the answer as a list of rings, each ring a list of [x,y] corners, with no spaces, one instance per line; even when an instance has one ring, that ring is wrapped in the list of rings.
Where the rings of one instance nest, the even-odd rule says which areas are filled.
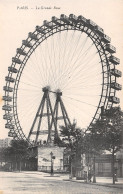
[[[98,131],[103,139],[103,147],[112,153],[112,178],[115,184],[115,153],[123,144],[123,112],[120,107],[105,111],[98,121]]]

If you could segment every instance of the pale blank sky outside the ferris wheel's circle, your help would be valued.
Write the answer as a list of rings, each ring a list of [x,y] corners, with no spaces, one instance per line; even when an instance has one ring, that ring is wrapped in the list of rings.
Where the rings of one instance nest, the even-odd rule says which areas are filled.
[[[1,110],[3,86],[8,66],[15,56],[16,48],[33,32],[36,25],[51,20],[60,14],[83,15],[101,26],[111,37],[111,44],[116,47],[116,56],[120,58],[119,70],[123,69],[123,0],[1,0],[0,1],[0,138],[7,137]],[[123,78],[118,80],[123,83]],[[118,92],[120,106],[123,109],[123,92]]]

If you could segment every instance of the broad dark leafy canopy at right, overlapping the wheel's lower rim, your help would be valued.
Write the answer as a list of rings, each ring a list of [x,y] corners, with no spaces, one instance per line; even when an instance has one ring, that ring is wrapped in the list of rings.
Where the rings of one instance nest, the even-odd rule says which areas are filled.
[[[108,150],[116,153],[123,143],[123,113],[112,107],[103,113],[100,120],[91,125],[85,135],[85,147],[90,151]]]

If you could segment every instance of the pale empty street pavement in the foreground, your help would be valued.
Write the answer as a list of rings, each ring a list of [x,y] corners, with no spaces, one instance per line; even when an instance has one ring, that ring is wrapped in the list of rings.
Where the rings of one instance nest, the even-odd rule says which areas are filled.
[[[68,175],[0,172],[0,194],[120,194],[121,188],[69,181]]]

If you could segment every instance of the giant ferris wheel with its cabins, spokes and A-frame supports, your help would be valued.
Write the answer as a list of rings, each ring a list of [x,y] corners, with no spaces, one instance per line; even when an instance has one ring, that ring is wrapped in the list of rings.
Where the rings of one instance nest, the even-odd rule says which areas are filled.
[[[118,104],[120,60],[111,38],[92,20],[61,14],[36,26],[17,48],[3,87],[8,136],[37,145],[60,137],[76,120],[88,128],[102,107]]]

